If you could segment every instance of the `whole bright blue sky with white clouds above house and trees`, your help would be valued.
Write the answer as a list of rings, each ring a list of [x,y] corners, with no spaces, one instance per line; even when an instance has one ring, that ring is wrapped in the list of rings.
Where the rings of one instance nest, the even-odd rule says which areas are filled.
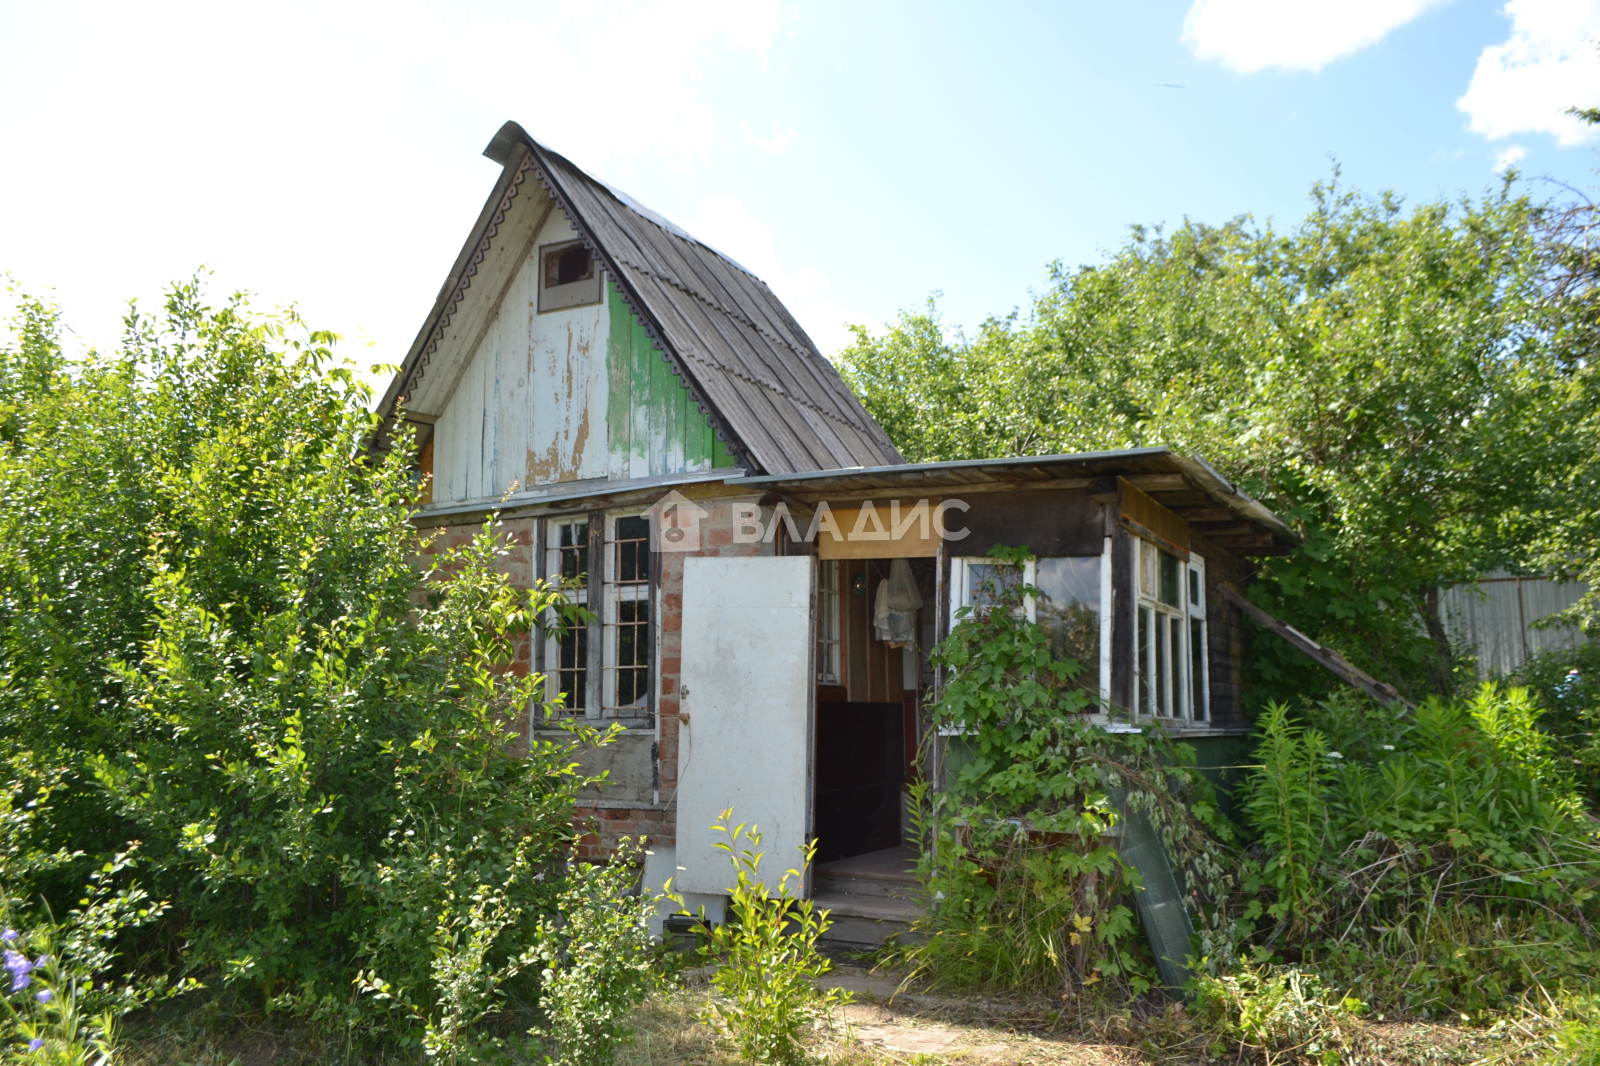
[[[762,274],[824,351],[1026,304],[1131,222],[1344,181],[1592,189],[1600,0],[0,6],[0,271],[80,343],[200,264],[398,360],[506,118]],[[1171,88],[1181,86],[1181,88]],[[1536,187],[1538,182],[1536,182]]]

